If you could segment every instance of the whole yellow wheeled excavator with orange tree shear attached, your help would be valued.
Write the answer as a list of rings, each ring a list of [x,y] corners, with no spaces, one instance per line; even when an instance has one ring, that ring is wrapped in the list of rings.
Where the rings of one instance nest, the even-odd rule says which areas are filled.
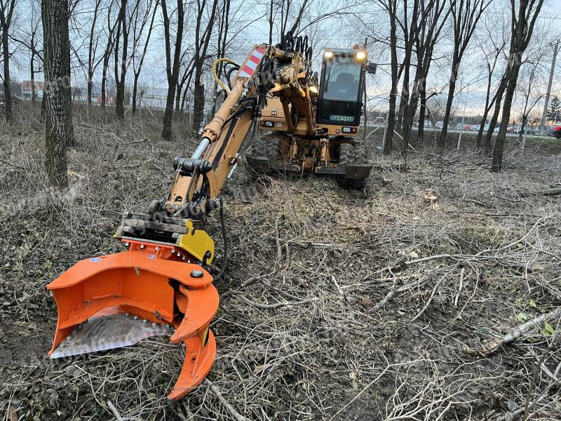
[[[81,260],[48,284],[58,307],[51,358],[168,335],[185,347],[168,399],[181,399],[203,381],[216,354],[210,323],[219,304],[209,272],[215,244],[205,223],[219,210],[227,243],[221,194],[258,129],[273,132],[277,160],[254,153],[248,161],[257,169],[351,179],[370,172],[368,166],[340,162],[342,145],[358,143],[353,136],[365,72],[371,69],[366,51],[326,50],[320,83],[311,72],[311,57],[306,39],[288,34],[276,46],[254,46],[239,67],[222,59],[231,66],[225,73],[237,71],[228,86],[220,81],[224,102],[193,154],[173,160],[168,195],[152,201],[146,214],[123,215],[114,237],[126,250]],[[224,272],[226,254],[225,249],[217,276]]]

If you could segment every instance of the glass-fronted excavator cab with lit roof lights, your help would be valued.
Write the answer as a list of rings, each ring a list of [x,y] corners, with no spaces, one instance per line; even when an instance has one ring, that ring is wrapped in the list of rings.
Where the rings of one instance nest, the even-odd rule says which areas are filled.
[[[365,83],[363,50],[329,49],[323,53],[317,122],[360,125]]]

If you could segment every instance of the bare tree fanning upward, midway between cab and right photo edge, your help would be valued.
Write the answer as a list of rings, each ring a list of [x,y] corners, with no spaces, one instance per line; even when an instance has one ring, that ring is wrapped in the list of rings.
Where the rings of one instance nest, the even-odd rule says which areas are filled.
[[[442,132],[438,139],[438,147],[441,149],[446,147],[450,110],[454,100],[454,91],[456,91],[461,59],[464,57],[464,53],[466,53],[482,13],[489,4],[491,4],[490,0],[450,0],[450,13],[452,14],[454,29],[454,50],[452,52],[452,71],[450,72],[450,83],[448,84],[446,112],[442,123]]]

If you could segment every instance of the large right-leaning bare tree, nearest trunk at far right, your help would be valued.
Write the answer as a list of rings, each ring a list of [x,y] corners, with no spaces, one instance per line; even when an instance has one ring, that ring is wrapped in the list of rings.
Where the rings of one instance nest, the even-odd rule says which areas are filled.
[[[539,12],[543,6],[543,0],[520,0],[518,4],[518,13],[516,10],[515,0],[511,0],[511,48],[508,55],[508,70],[506,78],[508,84],[506,87],[503,114],[501,118],[501,127],[499,134],[496,136],[495,145],[493,147],[493,161],[491,170],[494,172],[501,171],[503,166],[503,147],[506,138],[506,128],[508,121],[511,119],[511,107],[514,98],[516,84],[518,83],[518,74],[522,65],[522,55],[532,39],[534,26],[538,18]]]

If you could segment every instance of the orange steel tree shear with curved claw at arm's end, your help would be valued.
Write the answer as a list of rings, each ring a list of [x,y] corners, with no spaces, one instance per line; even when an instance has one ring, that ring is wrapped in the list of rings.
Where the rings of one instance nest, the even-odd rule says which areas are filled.
[[[212,368],[216,342],[209,325],[218,309],[217,290],[208,272],[181,262],[171,246],[133,242],[123,253],[81,260],[47,288],[58,307],[49,355],[88,319],[128,313],[172,324],[172,342],[185,345],[183,368],[169,399],[189,393]]]

